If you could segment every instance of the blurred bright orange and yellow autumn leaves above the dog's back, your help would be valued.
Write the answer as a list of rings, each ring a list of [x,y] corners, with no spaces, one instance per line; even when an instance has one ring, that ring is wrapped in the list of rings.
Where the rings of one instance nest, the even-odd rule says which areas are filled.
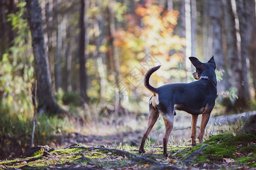
[[[185,39],[173,34],[179,12],[167,11],[152,1],[139,4],[135,12],[125,17],[127,28],[119,29],[115,34],[114,44],[120,48],[120,57],[140,60],[150,52],[161,62],[173,63],[169,66],[182,62],[183,56],[179,52]],[[170,56],[170,50],[177,53]]]

